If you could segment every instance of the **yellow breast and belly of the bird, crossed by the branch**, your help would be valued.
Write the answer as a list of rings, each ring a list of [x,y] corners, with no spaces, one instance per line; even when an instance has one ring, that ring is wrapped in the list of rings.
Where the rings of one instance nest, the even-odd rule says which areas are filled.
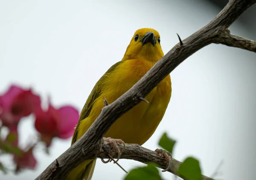
[[[90,115],[81,121],[78,138],[90,127],[103,108],[103,96],[112,103],[154,66],[145,60],[126,60],[113,73],[108,75],[105,88],[96,99]],[[147,97],[149,103],[141,102],[122,115],[111,126],[105,137],[122,139],[125,143],[142,145],[151,137],[163,118],[172,93],[171,79],[168,75]]]

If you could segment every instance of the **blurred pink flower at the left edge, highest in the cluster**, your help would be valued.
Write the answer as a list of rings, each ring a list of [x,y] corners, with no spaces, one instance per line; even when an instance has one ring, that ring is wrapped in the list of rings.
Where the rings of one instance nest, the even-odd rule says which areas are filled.
[[[12,85],[5,94],[0,96],[2,125],[15,129],[21,117],[35,112],[40,106],[40,97],[33,94],[31,89],[23,90]]]

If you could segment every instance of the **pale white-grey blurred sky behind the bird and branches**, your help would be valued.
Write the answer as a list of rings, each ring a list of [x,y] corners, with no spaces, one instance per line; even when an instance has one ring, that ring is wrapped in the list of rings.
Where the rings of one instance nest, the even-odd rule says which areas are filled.
[[[122,59],[134,32],[154,28],[164,53],[209,23],[218,9],[202,1],[0,1],[0,92],[11,83],[32,86],[52,97],[56,106],[72,104],[81,110],[91,89],[108,68]],[[231,32],[256,40],[239,22]],[[210,176],[220,161],[219,179],[256,176],[256,54],[222,45],[209,45],[193,54],[172,73],[172,98],[153,136],[143,145],[160,148],[164,131],[177,140],[173,156],[200,160]],[[32,120],[19,126],[21,143],[33,137]],[[146,126],[146,125],[145,125]],[[54,140],[50,155],[39,146],[36,171],[1,180],[34,179],[63,153],[69,140]],[[5,163],[10,165],[9,159]],[[133,160],[119,163],[130,170],[144,166]],[[10,166],[12,167],[12,166]],[[172,179],[171,173],[161,175]],[[97,160],[93,180],[119,180],[125,173],[113,163]]]

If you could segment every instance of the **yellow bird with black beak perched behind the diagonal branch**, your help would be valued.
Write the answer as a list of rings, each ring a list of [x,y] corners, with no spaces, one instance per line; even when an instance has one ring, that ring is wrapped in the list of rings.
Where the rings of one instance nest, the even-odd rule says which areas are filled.
[[[111,66],[91,91],[81,111],[72,144],[89,129],[99,116],[103,108],[104,97],[108,103],[113,103],[137,83],[162,57],[163,50],[159,33],[149,28],[137,30],[122,60]],[[143,145],[162,120],[171,94],[171,78],[168,75],[145,97],[148,103],[141,102],[119,117],[104,137]],[[90,180],[95,163],[96,159],[81,163],[70,172],[67,180]]]

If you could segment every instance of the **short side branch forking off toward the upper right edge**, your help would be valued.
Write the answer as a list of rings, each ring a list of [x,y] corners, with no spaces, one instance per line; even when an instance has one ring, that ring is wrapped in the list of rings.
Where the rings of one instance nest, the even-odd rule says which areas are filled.
[[[230,34],[230,30],[228,29],[226,29],[220,34],[220,37],[216,44],[224,44],[226,46],[256,52],[256,41]]]

